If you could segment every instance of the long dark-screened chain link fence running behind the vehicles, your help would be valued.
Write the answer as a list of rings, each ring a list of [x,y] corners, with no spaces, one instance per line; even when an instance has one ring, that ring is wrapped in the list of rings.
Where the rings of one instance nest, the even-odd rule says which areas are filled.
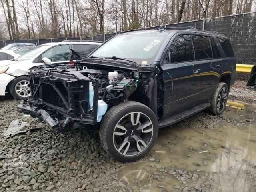
[[[230,39],[238,64],[256,64],[256,12],[208,18],[190,22],[162,25],[163,27],[188,27],[192,26],[199,30],[215,31],[224,34]],[[49,43],[61,42],[63,40],[94,40],[106,41],[113,36],[125,32],[158,29],[160,26],[140,28],[137,30],[122,31],[109,34],[88,36],[83,38],[52,38],[52,39],[26,39],[26,40],[2,40],[0,48],[10,43],[34,43],[36,46]],[[237,78],[246,80],[247,74],[238,74]]]

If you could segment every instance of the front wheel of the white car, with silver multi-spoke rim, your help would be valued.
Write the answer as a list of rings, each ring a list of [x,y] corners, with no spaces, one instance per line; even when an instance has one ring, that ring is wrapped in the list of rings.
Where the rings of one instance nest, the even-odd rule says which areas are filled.
[[[29,78],[21,76],[14,79],[10,84],[10,94],[18,100],[28,98],[31,94]]]

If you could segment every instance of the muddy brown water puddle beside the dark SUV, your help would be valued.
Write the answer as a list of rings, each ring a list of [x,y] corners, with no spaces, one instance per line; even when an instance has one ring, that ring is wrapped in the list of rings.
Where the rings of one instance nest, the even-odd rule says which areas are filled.
[[[118,180],[116,191],[256,191],[256,106],[161,130],[148,157],[128,164]]]

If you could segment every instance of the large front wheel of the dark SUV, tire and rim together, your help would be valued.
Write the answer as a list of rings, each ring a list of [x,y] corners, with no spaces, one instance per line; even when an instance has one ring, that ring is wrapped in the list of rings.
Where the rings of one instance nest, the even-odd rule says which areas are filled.
[[[147,106],[134,101],[108,110],[100,125],[100,142],[110,156],[121,162],[142,158],[158,136],[157,118]]]

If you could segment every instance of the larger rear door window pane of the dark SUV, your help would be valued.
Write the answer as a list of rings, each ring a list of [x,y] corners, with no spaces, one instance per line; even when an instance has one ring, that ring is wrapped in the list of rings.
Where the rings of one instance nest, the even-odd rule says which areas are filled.
[[[207,36],[193,35],[196,60],[211,59],[212,48]]]

